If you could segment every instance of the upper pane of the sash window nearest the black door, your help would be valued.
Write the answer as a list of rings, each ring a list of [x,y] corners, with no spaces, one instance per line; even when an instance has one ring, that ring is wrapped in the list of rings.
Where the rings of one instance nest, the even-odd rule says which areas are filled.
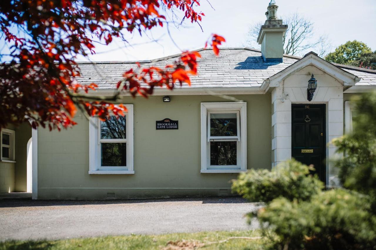
[[[210,114],[210,136],[237,136],[237,114]]]

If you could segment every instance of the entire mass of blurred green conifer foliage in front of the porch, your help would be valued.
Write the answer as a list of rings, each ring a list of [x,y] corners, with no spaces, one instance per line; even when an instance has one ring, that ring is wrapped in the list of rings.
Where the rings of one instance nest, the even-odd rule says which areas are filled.
[[[310,167],[295,160],[250,170],[233,191],[265,206],[257,217],[275,249],[376,249],[376,93],[356,96],[354,131],[333,140],[343,188],[322,190]]]

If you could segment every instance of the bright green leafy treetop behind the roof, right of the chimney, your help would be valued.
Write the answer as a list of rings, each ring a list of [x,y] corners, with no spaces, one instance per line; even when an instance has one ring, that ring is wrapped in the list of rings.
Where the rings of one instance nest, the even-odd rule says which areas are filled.
[[[333,63],[351,64],[364,53],[372,53],[367,44],[356,40],[347,41],[345,44],[338,46],[334,52],[327,54],[325,60]]]

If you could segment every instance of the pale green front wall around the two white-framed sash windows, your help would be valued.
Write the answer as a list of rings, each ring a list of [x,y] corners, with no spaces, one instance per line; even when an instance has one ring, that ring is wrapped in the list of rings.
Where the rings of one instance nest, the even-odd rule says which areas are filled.
[[[270,95],[236,95],[247,102],[247,168],[270,168]],[[89,123],[72,129],[38,129],[38,199],[218,195],[234,173],[200,173],[200,103],[216,96],[124,98],[134,104],[134,175],[89,175]],[[156,130],[155,121],[179,120],[179,130]]]

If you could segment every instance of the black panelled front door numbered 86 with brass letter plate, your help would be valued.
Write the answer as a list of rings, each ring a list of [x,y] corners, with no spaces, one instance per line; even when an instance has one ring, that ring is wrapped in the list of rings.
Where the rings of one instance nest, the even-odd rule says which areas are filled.
[[[326,183],[325,104],[293,104],[291,110],[291,156],[314,165],[315,173]]]

